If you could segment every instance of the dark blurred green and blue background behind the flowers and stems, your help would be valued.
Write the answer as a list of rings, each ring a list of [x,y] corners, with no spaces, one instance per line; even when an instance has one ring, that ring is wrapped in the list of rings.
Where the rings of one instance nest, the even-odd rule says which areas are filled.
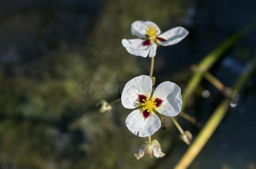
[[[128,54],[122,38],[135,20],[152,20],[162,32],[181,25],[190,34],[177,45],[159,47],[154,76],[157,83],[185,86],[190,66],[201,61],[229,35],[256,17],[255,0],[91,1],[9,0],[0,2],[0,168],[173,168],[187,146],[178,131],[160,130],[158,139],[167,155],[162,159],[133,157],[146,138],[133,136],[124,124],[129,110],[116,104],[99,114],[94,105],[120,93],[80,93],[84,84],[125,84],[149,73],[149,58]],[[256,29],[244,35],[210,69],[232,86],[255,56]],[[235,108],[193,161],[190,169],[256,169],[256,75],[250,78]],[[186,113],[205,124],[224,98],[206,80],[190,99]],[[199,94],[198,94],[199,93]],[[106,141],[89,116],[106,132]],[[194,137],[199,128],[178,118]]]

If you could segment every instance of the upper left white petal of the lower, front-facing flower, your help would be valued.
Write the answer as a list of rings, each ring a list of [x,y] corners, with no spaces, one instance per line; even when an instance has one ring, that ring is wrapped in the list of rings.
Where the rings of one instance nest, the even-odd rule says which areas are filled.
[[[150,97],[152,92],[152,79],[149,76],[137,76],[125,84],[123,88],[121,101],[125,108],[136,108],[141,106],[138,101],[138,95],[143,94]]]

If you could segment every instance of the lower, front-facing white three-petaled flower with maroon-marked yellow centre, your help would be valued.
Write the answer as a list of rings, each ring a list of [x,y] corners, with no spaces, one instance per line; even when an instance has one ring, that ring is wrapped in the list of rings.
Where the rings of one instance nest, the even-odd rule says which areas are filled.
[[[181,110],[178,85],[165,81],[157,86],[153,94],[152,87],[152,79],[141,75],[128,81],[123,89],[123,106],[137,108],[125,120],[128,129],[136,136],[151,136],[160,128],[161,121],[154,111],[165,116],[177,116]]]

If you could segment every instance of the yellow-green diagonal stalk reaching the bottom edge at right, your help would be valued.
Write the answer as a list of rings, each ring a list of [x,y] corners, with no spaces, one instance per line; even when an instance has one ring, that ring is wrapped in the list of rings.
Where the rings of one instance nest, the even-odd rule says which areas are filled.
[[[256,56],[251,61],[250,68],[247,68],[245,73],[243,73],[235,85],[233,86],[234,90],[240,91],[240,89],[246,84],[250,76],[253,74],[256,68]],[[230,107],[231,98],[226,98],[219,104],[216,108],[210,119],[205,124],[204,128],[200,131],[199,135],[196,137],[193,144],[188,148],[183,157],[180,159],[178,164],[174,169],[186,169],[191,164],[191,162],[196,158],[201,149],[204,147],[206,142],[214,133],[217,126],[219,126],[220,122],[224,118],[228,108]]]

